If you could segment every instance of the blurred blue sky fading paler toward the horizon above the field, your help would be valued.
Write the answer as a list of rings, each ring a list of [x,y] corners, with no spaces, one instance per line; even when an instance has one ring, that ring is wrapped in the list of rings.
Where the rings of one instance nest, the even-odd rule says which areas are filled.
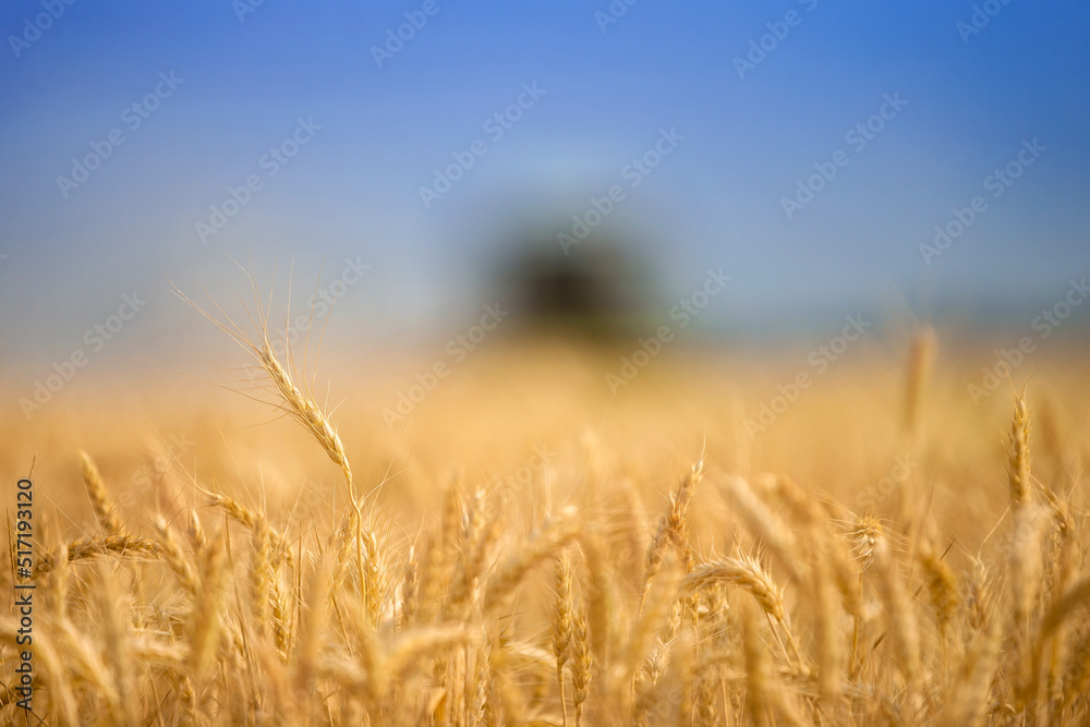
[[[615,184],[626,196],[603,229],[646,250],[665,288],[734,276],[710,318],[1058,300],[1087,271],[1086,3],[641,0],[615,2],[627,11],[607,25],[605,0],[266,0],[242,20],[241,2],[58,0],[46,23],[50,4],[0,14],[5,355],[63,355],[132,291],[154,323],[130,335],[150,341],[192,318],[168,280],[230,294],[245,284],[232,258],[270,271],[277,251],[306,286],[363,260],[338,315],[411,330],[487,302],[482,260],[509,230],[561,232]],[[426,23],[379,68],[373,48],[405,13]],[[959,29],[974,13],[979,32]],[[735,59],[762,40],[740,77]],[[180,83],[132,128],[124,110],[160,74]],[[486,133],[533,84],[544,93]],[[897,94],[907,104],[849,144]],[[270,175],[265,155],[299,120],[311,137]],[[116,130],[123,143],[61,189]],[[683,138],[629,186],[663,130]],[[485,154],[425,208],[420,189],[476,140]],[[989,175],[1032,140],[1044,150],[992,197]],[[838,150],[846,165],[788,218],[784,198]],[[259,189],[202,240],[197,223],[251,177]],[[986,209],[927,265],[920,245],[977,195]]]

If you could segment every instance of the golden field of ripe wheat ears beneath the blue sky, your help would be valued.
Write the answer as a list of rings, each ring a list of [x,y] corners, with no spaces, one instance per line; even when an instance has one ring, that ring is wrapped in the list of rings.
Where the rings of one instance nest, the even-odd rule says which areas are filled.
[[[4,723],[1090,719],[1073,352],[974,404],[988,353],[917,328],[754,432],[797,361],[679,348],[613,396],[613,353],[500,343],[390,427],[377,379],[327,393],[210,317],[238,393],[164,375],[0,425]]]

